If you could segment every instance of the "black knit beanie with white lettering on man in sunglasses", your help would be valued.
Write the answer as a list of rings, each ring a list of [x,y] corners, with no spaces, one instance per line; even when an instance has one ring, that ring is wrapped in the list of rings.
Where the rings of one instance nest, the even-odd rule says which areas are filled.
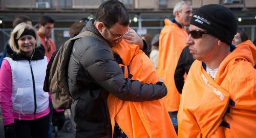
[[[206,30],[229,45],[238,29],[237,18],[232,11],[217,4],[204,5],[199,8],[191,17],[190,25]]]

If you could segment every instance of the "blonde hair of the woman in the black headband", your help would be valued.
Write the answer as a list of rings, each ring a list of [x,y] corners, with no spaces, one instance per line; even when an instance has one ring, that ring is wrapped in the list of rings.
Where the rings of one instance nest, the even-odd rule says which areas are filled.
[[[31,25],[29,25],[25,22],[22,22],[22,23],[18,24],[13,29],[13,31],[11,33],[11,38],[10,38],[10,41],[9,41],[11,49],[16,53],[20,53],[20,49],[18,47],[17,40],[23,34],[25,29],[31,29],[35,32],[35,37],[36,37],[35,38],[35,40],[36,40],[35,48],[40,47],[41,40],[40,40],[40,37],[37,35],[35,28],[33,28]],[[16,38],[15,38],[15,36],[16,36]]]

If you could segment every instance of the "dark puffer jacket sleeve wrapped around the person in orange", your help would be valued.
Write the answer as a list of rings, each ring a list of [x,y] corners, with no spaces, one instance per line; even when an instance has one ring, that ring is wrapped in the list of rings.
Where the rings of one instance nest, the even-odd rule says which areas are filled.
[[[94,81],[123,101],[161,99],[167,94],[164,83],[140,83],[125,79],[121,68],[105,45],[95,45],[84,53],[81,64]]]

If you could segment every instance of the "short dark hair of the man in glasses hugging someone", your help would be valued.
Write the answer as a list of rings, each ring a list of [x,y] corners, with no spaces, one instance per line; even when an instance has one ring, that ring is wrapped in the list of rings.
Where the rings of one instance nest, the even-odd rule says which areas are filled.
[[[120,25],[130,24],[129,14],[123,3],[117,0],[109,0],[102,3],[96,13],[96,21],[101,21],[106,28],[111,28],[116,22]]]

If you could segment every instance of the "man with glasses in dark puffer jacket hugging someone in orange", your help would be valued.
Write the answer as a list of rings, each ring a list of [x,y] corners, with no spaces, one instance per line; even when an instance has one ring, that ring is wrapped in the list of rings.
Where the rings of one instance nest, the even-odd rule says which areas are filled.
[[[111,137],[106,98],[112,93],[123,101],[161,99],[166,86],[125,79],[111,47],[122,39],[130,24],[124,5],[111,0],[102,3],[96,20],[87,22],[89,36],[77,39],[68,67],[68,84],[74,102],[72,125],[76,137]]]

